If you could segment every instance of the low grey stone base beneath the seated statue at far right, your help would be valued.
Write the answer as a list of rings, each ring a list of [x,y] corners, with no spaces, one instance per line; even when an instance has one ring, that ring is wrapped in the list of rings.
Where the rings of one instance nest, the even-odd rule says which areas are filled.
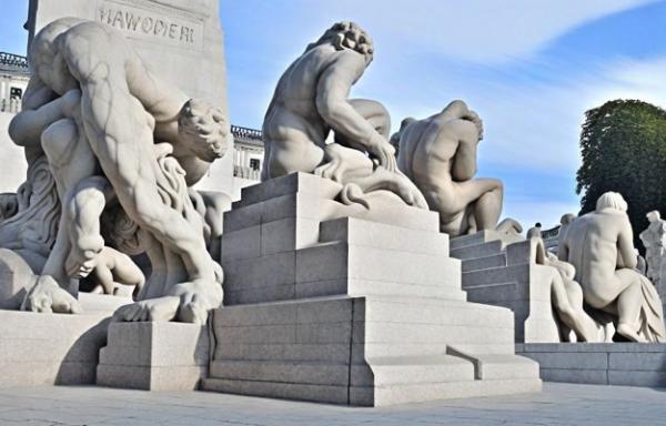
[[[666,344],[517,344],[516,353],[538,362],[546,382],[666,387]]]

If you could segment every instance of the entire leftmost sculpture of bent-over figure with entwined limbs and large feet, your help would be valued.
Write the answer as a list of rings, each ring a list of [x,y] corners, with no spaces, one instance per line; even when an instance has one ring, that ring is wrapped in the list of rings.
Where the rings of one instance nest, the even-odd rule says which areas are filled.
[[[226,150],[221,112],[163,83],[120,32],[100,23],[50,23],[29,60],[33,77],[10,135],[30,168],[48,175],[36,193],[38,172],[29,169],[29,202],[0,225],[1,246],[42,257],[31,262],[41,277],[23,307],[79,311],[71,278],[95,268],[103,283],[111,272],[139,284],[129,260],[108,246],[113,242],[147,251],[152,263],[140,301],[117,320],[205,322],[222,303],[222,270],[206,251],[206,209],[194,206],[190,186]],[[36,224],[40,216],[48,220]],[[110,217],[118,223],[105,223]],[[26,242],[34,236],[27,226],[48,227],[37,250]]]

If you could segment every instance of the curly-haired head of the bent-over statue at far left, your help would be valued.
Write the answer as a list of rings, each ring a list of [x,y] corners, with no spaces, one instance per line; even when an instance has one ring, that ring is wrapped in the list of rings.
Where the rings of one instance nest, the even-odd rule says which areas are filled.
[[[191,99],[180,111],[178,132],[194,155],[212,162],[226,153],[231,126],[218,108]]]

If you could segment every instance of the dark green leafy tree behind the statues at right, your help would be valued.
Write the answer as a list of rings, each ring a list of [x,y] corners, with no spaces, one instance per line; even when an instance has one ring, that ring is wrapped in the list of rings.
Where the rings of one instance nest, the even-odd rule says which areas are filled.
[[[636,100],[616,100],[585,113],[581,133],[583,164],[576,193],[581,214],[593,211],[606,191],[629,205],[634,244],[647,226],[645,214],[666,213],[666,111]]]

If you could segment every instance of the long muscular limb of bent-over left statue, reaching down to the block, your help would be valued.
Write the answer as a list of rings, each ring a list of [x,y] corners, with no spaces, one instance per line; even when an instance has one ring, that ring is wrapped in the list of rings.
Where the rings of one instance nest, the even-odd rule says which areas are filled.
[[[189,282],[174,288],[173,295],[182,297],[183,306],[196,305],[199,314],[218,307],[222,303],[219,265],[208,253],[203,235],[164,205],[158,191],[158,179],[163,176],[154,158],[150,116],[127,84],[113,83],[113,71],[109,72],[109,78],[83,87],[82,112],[92,150],[128,216],[182,258]]]

